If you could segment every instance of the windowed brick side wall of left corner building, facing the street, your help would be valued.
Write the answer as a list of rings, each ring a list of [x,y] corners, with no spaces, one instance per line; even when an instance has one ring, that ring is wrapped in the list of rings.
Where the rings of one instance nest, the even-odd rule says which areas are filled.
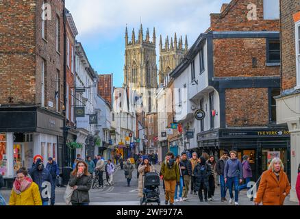
[[[41,103],[41,64],[45,60],[47,66],[45,106],[49,110],[56,112],[55,88],[56,74],[60,73],[60,112],[63,105],[63,82],[64,82],[64,3],[62,0],[49,1],[51,5],[51,20],[47,21],[46,40],[42,39],[42,1],[36,1],[36,104]],[[60,18],[60,53],[56,51],[56,18]],[[53,107],[48,106],[48,102],[53,102]]]

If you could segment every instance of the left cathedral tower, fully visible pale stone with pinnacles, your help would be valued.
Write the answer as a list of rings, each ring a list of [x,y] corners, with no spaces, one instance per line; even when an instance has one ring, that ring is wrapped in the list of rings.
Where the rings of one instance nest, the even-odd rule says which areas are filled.
[[[129,42],[127,27],[125,30],[125,66],[124,86],[139,90],[140,88],[158,88],[158,67],[155,52],[155,28],[152,42],[149,29],[146,38],[143,37],[142,25],[138,31],[138,38],[132,30],[132,41]]]

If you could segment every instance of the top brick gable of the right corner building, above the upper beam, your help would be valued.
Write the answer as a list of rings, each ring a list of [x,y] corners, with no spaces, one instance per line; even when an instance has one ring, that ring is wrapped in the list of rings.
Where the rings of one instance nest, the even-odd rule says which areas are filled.
[[[247,6],[256,5],[257,20],[249,20]],[[279,20],[264,20],[263,0],[232,0],[221,14],[211,14],[213,31],[279,31]]]

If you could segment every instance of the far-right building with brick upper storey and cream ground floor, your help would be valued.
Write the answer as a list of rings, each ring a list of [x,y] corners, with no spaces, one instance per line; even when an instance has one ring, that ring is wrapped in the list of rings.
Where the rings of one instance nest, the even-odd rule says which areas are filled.
[[[290,131],[290,200],[297,201],[295,184],[300,163],[300,1],[280,1],[282,42],[282,90],[277,101],[277,123],[287,123]]]

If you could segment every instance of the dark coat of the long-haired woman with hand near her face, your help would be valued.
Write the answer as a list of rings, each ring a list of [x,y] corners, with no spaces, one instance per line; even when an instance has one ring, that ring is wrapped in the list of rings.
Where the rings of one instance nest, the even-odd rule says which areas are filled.
[[[72,194],[71,203],[90,203],[88,191],[92,185],[91,175],[83,175],[82,177],[72,175],[68,185],[71,187],[77,185],[77,190],[74,190]]]

